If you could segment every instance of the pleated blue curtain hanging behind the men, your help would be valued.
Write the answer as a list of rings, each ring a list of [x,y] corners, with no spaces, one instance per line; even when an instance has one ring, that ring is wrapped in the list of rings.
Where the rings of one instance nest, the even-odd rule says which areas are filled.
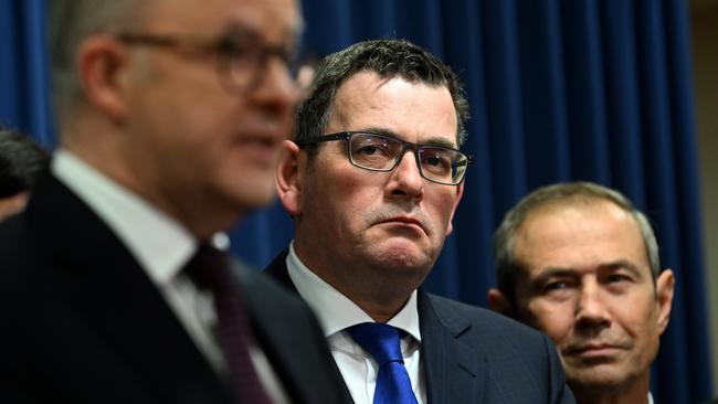
[[[44,1],[0,0],[0,121],[54,142]],[[682,0],[304,0],[306,54],[406,38],[457,71],[476,157],[455,233],[426,287],[485,305],[492,234],[536,187],[591,180],[653,221],[676,273],[671,325],[654,365],[658,403],[711,395],[688,4]],[[258,267],[292,237],[277,204],[245,221],[233,248]]]

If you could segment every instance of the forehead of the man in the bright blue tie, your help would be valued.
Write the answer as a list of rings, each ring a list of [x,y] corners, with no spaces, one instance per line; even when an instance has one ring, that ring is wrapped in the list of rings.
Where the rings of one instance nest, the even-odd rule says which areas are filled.
[[[327,127],[329,131],[381,128],[409,141],[442,138],[455,146],[457,120],[446,87],[359,72],[337,91]]]

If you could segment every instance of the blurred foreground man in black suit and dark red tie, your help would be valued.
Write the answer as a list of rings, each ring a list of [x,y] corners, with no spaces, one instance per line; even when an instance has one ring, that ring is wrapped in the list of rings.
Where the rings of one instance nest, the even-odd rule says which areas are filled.
[[[50,21],[61,147],[0,227],[0,402],[349,401],[310,310],[218,233],[274,194],[295,1],[57,0]]]

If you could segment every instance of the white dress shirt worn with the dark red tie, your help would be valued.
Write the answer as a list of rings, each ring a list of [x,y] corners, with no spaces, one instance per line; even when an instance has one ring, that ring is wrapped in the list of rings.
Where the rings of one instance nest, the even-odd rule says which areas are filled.
[[[224,358],[211,331],[217,323],[212,296],[199,290],[181,272],[198,248],[199,242],[194,236],[175,219],[70,151],[57,150],[51,170],[112,228],[145,269],[210,364],[219,374],[226,374]],[[226,249],[229,238],[220,233],[213,243]],[[258,347],[250,347],[250,353],[271,398],[275,403],[288,403],[264,352]]]

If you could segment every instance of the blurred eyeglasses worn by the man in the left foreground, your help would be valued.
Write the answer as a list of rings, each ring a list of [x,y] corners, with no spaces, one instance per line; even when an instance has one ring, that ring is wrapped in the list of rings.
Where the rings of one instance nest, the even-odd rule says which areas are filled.
[[[167,47],[188,53],[213,55],[218,60],[218,75],[222,84],[240,93],[250,92],[261,83],[271,57],[278,57],[287,68],[291,79],[296,82],[297,66],[293,50],[284,46],[262,45],[255,34],[241,29],[230,30],[215,38],[148,32],[119,32],[114,36],[133,45]]]

